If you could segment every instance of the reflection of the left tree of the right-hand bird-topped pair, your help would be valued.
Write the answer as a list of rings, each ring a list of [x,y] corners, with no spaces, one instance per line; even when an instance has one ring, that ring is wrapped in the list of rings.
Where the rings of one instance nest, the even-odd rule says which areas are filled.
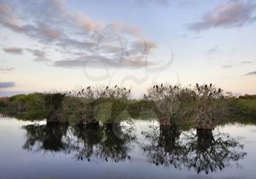
[[[149,142],[143,145],[148,162],[181,168],[186,150],[182,141],[179,140],[181,132],[176,126],[153,127],[152,131],[142,132],[142,134]]]

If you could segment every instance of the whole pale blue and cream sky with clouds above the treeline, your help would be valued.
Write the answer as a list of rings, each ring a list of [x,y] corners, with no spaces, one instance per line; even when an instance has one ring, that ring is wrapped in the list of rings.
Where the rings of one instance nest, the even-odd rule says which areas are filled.
[[[212,83],[256,94],[255,0],[0,0],[0,96]]]

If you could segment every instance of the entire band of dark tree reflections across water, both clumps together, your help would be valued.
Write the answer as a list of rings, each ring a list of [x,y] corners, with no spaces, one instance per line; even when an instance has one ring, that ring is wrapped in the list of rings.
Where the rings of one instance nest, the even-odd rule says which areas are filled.
[[[177,126],[151,127],[135,135],[132,125],[26,125],[27,151],[57,152],[79,162],[124,162],[138,146],[147,162],[157,167],[189,169],[197,173],[239,167],[244,145],[218,130],[191,130]]]

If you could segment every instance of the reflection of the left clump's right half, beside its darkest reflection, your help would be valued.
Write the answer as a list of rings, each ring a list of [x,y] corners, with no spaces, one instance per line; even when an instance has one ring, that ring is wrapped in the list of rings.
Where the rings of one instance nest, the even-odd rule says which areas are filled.
[[[119,124],[108,125],[105,127],[74,127],[74,137],[80,146],[76,148],[78,160],[103,159],[105,162],[120,162],[129,159],[132,142],[136,137],[132,135],[132,129],[121,127]],[[72,145],[71,145],[72,146]]]

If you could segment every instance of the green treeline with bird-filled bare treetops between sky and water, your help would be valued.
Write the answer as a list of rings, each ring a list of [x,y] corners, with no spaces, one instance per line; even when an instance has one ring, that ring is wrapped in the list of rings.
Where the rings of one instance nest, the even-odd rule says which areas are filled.
[[[225,121],[256,119],[256,95],[236,97],[212,84],[155,84],[135,100],[131,90],[116,85],[0,98],[0,112],[20,119],[75,124],[157,118],[161,125],[210,129]]]

